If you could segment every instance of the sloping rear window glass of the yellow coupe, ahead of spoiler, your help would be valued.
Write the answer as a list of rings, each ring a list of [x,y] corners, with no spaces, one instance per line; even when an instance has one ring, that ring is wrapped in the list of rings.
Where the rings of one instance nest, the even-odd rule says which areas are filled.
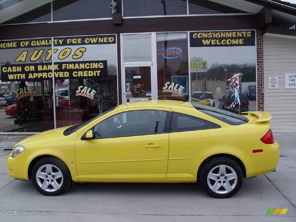
[[[233,112],[196,103],[191,104],[195,109],[199,110],[200,112],[203,112],[230,125],[241,125],[249,122],[248,118]]]

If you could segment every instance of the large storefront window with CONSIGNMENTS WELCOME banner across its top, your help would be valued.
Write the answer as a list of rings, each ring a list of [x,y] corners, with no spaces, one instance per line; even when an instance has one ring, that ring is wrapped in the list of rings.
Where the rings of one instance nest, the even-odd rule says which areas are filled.
[[[190,32],[190,72],[192,99],[236,113],[255,111],[255,31]],[[241,105],[230,107],[234,91],[227,80],[237,73]]]

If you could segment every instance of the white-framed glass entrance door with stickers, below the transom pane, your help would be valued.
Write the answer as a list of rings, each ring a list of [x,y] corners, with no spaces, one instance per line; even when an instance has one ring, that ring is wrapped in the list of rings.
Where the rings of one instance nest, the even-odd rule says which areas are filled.
[[[150,65],[123,65],[123,102],[156,99]]]

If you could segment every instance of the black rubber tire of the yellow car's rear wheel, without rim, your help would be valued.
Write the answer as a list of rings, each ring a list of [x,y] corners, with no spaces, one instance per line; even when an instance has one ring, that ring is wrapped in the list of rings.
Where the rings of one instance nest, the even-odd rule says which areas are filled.
[[[208,181],[208,175],[209,175],[210,171],[212,171],[213,169],[219,171],[220,168],[218,166],[223,166],[223,165],[226,165],[226,173],[230,173],[230,171],[234,170],[236,173],[237,179],[233,179],[230,181],[224,181],[227,179],[227,175],[226,175],[226,178],[224,178],[225,175],[223,175],[223,176],[219,177],[220,179],[218,179],[218,177],[217,177],[216,178],[217,181],[212,180],[212,179],[209,179],[209,181]],[[215,170],[212,172],[218,173],[218,171],[215,171]],[[207,194],[209,194],[210,196],[215,197],[215,198],[228,198],[228,197],[233,196],[241,188],[242,180],[243,180],[243,174],[242,174],[241,168],[234,160],[231,160],[230,158],[227,158],[227,157],[218,157],[218,158],[210,160],[209,162],[207,162],[203,166],[201,173],[200,173],[200,182],[201,182],[202,188],[205,190],[205,192],[207,192]],[[208,182],[210,183],[210,185],[212,185],[212,187],[215,186],[216,182],[219,184],[222,184],[223,186],[220,187],[216,192],[214,192],[210,188],[210,185],[208,184]],[[230,187],[232,187],[233,189],[228,192],[226,190],[226,188],[224,188],[225,183],[230,184]],[[217,184],[217,186],[220,186],[219,184]],[[223,193],[223,192],[227,192],[227,193]]]

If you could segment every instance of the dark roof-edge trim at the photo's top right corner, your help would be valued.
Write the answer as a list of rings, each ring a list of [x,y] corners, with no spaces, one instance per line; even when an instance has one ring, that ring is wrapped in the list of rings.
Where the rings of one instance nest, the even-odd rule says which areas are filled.
[[[266,0],[244,0],[244,1],[261,5],[266,8],[274,9],[279,12],[284,12],[289,15],[296,15],[296,7],[291,8],[292,5],[290,5],[289,7],[287,4],[282,4],[282,3],[279,4],[279,2],[276,2],[276,1],[266,1]]]

